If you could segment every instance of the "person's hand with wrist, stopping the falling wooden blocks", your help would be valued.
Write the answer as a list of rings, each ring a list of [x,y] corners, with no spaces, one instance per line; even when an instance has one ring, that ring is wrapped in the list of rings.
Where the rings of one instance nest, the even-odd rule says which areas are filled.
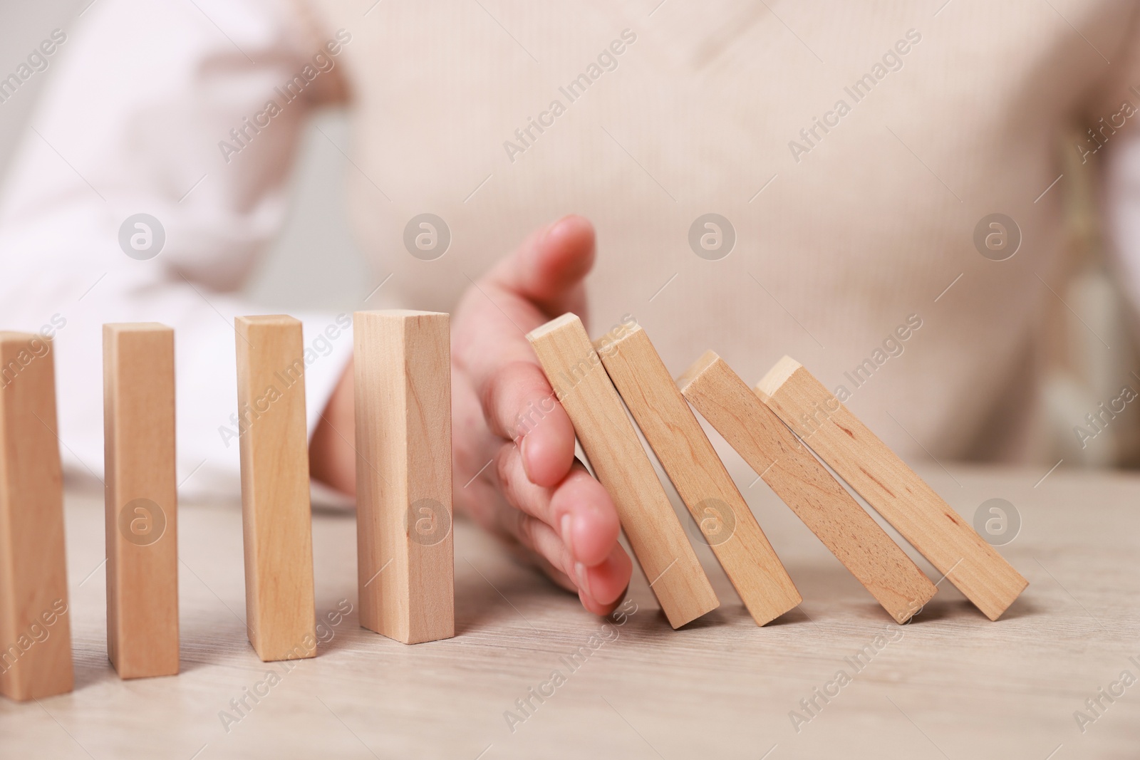
[[[451,319],[453,495],[457,509],[604,615],[625,595],[633,564],[618,544],[613,501],[575,458],[573,426],[526,338],[567,311],[585,319],[583,278],[593,262],[593,227],[565,216],[459,300]],[[312,476],[353,493],[352,440],[350,365],[314,432]]]

